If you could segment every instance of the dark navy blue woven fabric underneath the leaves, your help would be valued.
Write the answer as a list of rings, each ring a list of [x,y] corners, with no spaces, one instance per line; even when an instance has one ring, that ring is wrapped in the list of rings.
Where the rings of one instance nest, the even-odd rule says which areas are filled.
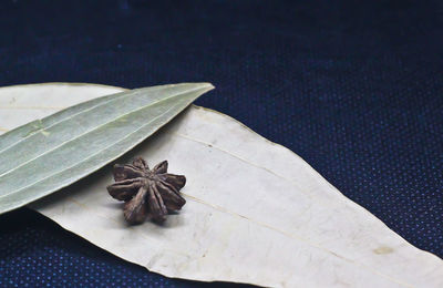
[[[0,85],[208,81],[197,104],[311,164],[443,257],[442,1],[2,1]],[[193,286],[35,213],[0,216],[0,286]]]

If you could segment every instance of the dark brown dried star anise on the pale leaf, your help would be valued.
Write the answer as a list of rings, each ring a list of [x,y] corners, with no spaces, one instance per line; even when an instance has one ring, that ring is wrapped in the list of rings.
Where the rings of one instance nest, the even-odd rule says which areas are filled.
[[[135,158],[132,165],[114,165],[115,183],[107,186],[107,192],[125,202],[124,217],[130,224],[143,223],[146,217],[162,223],[168,212],[185,205],[179,189],[185,186],[186,177],[166,172],[167,161],[150,169],[142,157]]]

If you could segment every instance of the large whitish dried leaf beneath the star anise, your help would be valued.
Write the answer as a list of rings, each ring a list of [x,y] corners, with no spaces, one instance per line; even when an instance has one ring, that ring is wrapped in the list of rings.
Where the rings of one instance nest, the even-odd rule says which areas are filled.
[[[83,88],[91,99],[112,93]],[[58,94],[55,84],[41,89]],[[33,89],[17,97],[43,104]],[[76,103],[74,93],[60,97],[63,105]],[[167,158],[171,173],[188,179],[187,204],[164,226],[127,226],[122,205],[105,189],[112,183],[105,169],[31,207],[169,277],[275,287],[443,287],[440,258],[390,230],[296,154],[226,115],[192,106],[119,162],[135,155],[150,164]]]

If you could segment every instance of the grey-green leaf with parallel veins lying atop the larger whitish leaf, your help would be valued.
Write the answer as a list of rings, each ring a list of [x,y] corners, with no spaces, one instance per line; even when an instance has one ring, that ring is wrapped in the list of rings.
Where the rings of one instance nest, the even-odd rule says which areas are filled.
[[[106,165],[169,122],[209,83],[131,90],[94,99],[0,136],[0,214]]]

